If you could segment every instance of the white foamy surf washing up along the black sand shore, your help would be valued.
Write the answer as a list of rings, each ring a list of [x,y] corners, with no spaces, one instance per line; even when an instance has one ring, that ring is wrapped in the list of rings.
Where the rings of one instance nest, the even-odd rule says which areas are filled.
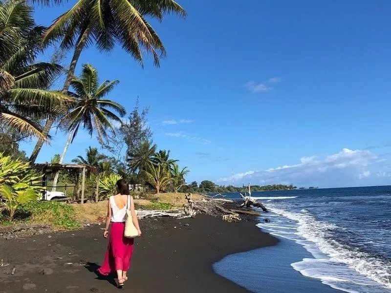
[[[391,292],[391,264],[332,239],[332,231],[341,230],[338,226],[316,220],[307,210],[267,208],[280,217],[258,227],[297,242],[315,257],[291,264],[296,271],[349,293]]]

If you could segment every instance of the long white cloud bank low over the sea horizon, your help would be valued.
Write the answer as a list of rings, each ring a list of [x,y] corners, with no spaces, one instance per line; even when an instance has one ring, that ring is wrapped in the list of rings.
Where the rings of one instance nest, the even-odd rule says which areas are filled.
[[[359,184],[357,180],[372,178],[384,167],[387,160],[369,150],[343,148],[328,156],[309,156],[300,159],[298,164],[269,168],[263,171],[247,171],[218,181],[242,184],[275,184],[291,182],[297,186],[347,186]],[[383,175],[381,173],[381,175]],[[378,177],[379,174],[377,174]],[[356,182],[356,183],[354,183]]]

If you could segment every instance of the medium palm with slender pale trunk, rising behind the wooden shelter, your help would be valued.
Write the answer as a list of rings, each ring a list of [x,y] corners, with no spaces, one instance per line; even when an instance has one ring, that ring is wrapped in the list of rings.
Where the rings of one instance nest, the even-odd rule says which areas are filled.
[[[70,93],[76,99],[75,105],[71,111],[65,115],[63,121],[67,125],[69,132],[63,153],[60,157],[60,164],[63,163],[66,151],[69,145],[75,139],[81,125],[87,129],[92,137],[94,130],[98,139],[103,141],[107,137],[106,129],[112,128],[110,121],[121,123],[112,109],[119,113],[121,117],[126,114],[125,108],[108,99],[103,99],[118,84],[118,81],[105,81],[98,86],[98,72],[90,64],[84,64],[80,78],[74,77],[71,86],[75,92]],[[54,177],[53,189],[55,190],[58,181],[58,173]]]

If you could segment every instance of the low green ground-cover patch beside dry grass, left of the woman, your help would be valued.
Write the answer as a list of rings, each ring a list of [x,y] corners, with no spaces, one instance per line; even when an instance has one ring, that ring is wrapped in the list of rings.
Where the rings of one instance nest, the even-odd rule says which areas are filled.
[[[53,228],[64,230],[80,228],[73,207],[58,202],[30,202],[23,205],[19,213],[27,215],[31,223],[50,224]]]

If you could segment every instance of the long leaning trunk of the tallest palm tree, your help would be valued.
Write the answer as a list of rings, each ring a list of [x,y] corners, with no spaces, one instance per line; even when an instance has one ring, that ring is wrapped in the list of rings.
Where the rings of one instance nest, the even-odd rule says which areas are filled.
[[[63,90],[62,90],[62,92],[65,93],[65,94],[69,90],[70,82],[71,82],[72,77],[73,77],[73,75],[75,73],[76,65],[77,65],[77,62],[79,61],[80,54],[82,53],[82,51],[84,49],[84,46],[86,45],[87,37],[88,37],[89,32],[90,32],[89,28],[84,30],[84,32],[80,35],[79,40],[77,42],[77,45],[75,47],[75,51],[73,52],[72,61],[71,61],[70,65],[69,65],[69,70],[68,70],[68,73],[66,75],[65,83],[64,83],[64,86],[63,86]],[[46,124],[43,127],[43,137],[47,137],[47,135],[49,134],[50,128],[52,127],[53,123],[54,123],[54,119],[53,118],[50,118],[50,119],[48,119],[46,121]],[[40,137],[38,139],[38,142],[35,145],[33,152],[31,153],[31,156],[30,156],[30,159],[29,159],[30,164],[34,164],[35,161],[37,160],[38,154],[40,153],[40,151],[42,149],[42,146],[43,146],[43,143],[44,143],[43,137]]]

